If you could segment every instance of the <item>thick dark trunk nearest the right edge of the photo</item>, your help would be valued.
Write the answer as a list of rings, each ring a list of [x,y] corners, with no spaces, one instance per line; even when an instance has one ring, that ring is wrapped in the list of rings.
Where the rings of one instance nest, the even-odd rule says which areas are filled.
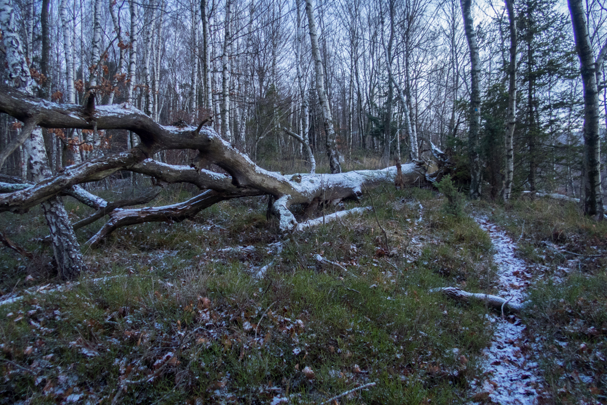
[[[599,90],[594,54],[586,25],[582,0],[569,0],[569,11],[575,37],[575,48],[580,58],[584,85],[584,157],[586,215],[603,219],[603,191],[600,171]]]

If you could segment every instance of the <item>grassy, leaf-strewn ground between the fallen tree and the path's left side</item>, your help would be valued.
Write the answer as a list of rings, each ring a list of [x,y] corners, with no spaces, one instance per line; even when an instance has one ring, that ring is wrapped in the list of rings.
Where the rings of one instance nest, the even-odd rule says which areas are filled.
[[[157,205],[185,198],[181,190]],[[365,198],[361,206],[370,205]],[[462,403],[468,381],[482,374],[492,333],[486,308],[429,290],[487,290],[490,241],[470,218],[445,215],[430,190],[382,187],[373,202],[377,219],[353,216],[284,239],[266,221],[263,198],[216,204],[193,222],[117,230],[86,252],[90,270],[78,286],[0,307],[0,404],[68,395],[80,403],[120,395],[124,404],[265,404],[279,394],[311,403],[371,381],[342,403]],[[39,213],[16,218],[24,223],[5,224],[15,241],[48,257],[30,242],[44,234]],[[28,221],[38,221],[32,233],[14,232]],[[81,240],[95,226],[79,231]],[[282,253],[268,253],[277,241]],[[245,245],[257,249],[219,251]],[[10,274],[2,292],[56,283],[50,272],[26,283],[29,268],[1,254]]]

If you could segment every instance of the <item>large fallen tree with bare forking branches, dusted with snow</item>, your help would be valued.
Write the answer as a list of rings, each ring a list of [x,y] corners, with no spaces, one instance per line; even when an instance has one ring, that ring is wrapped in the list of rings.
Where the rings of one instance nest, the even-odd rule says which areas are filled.
[[[364,189],[385,182],[393,183],[398,173],[395,166],[382,170],[285,176],[257,166],[211,127],[203,124],[198,127],[162,126],[131,104],[97,106],[93,96],[89,96],[88,100],[84,106],[57,104],[0,84],[0,112],[27,122],[29,127],[123,129],[134,132],[140,138],[138,146],[131,150],[64,167],[60,172],[33,184],[4,176],[0,184],[0,212],[25,213],[49,199],[70,195],[97,210],[89,218],[75,224],[75,228],[109,216],[88,241],[88,244],[97,244],[121,226],[183,221],[225,199],[269,195],[268,211],[278,218],[279,231],[288,233],[294,232],[299,225],[290,210],[294,204],[302,204],[308,216],[313,216],[319,206],[337,204],[346,198],[359,199]],[[169,149],[192,149],[197,151],[197,156],[191,166],[170,165],[151,158]],[[226,173],[206,169],[211,164],[219,166]],[[79,184],[107,178],[119,170],[150,176],[159,187],[176,182],[194,184],[201,193],[171,206],[125,209],[151,201],[158,194],[158,187],[139,198],[115,202],[104,201],[78,187]],[[401,172],[405,185],[423,185],[427,182],[426,166],[421,161],[403,164]]]

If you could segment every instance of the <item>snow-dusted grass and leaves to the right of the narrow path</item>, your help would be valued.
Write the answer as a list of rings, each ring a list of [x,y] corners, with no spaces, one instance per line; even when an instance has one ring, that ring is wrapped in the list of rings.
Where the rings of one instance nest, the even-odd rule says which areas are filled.
[[[493,207],[538,277],[523,314],[555,404],[607,400],[607,223],[571,202]]]

